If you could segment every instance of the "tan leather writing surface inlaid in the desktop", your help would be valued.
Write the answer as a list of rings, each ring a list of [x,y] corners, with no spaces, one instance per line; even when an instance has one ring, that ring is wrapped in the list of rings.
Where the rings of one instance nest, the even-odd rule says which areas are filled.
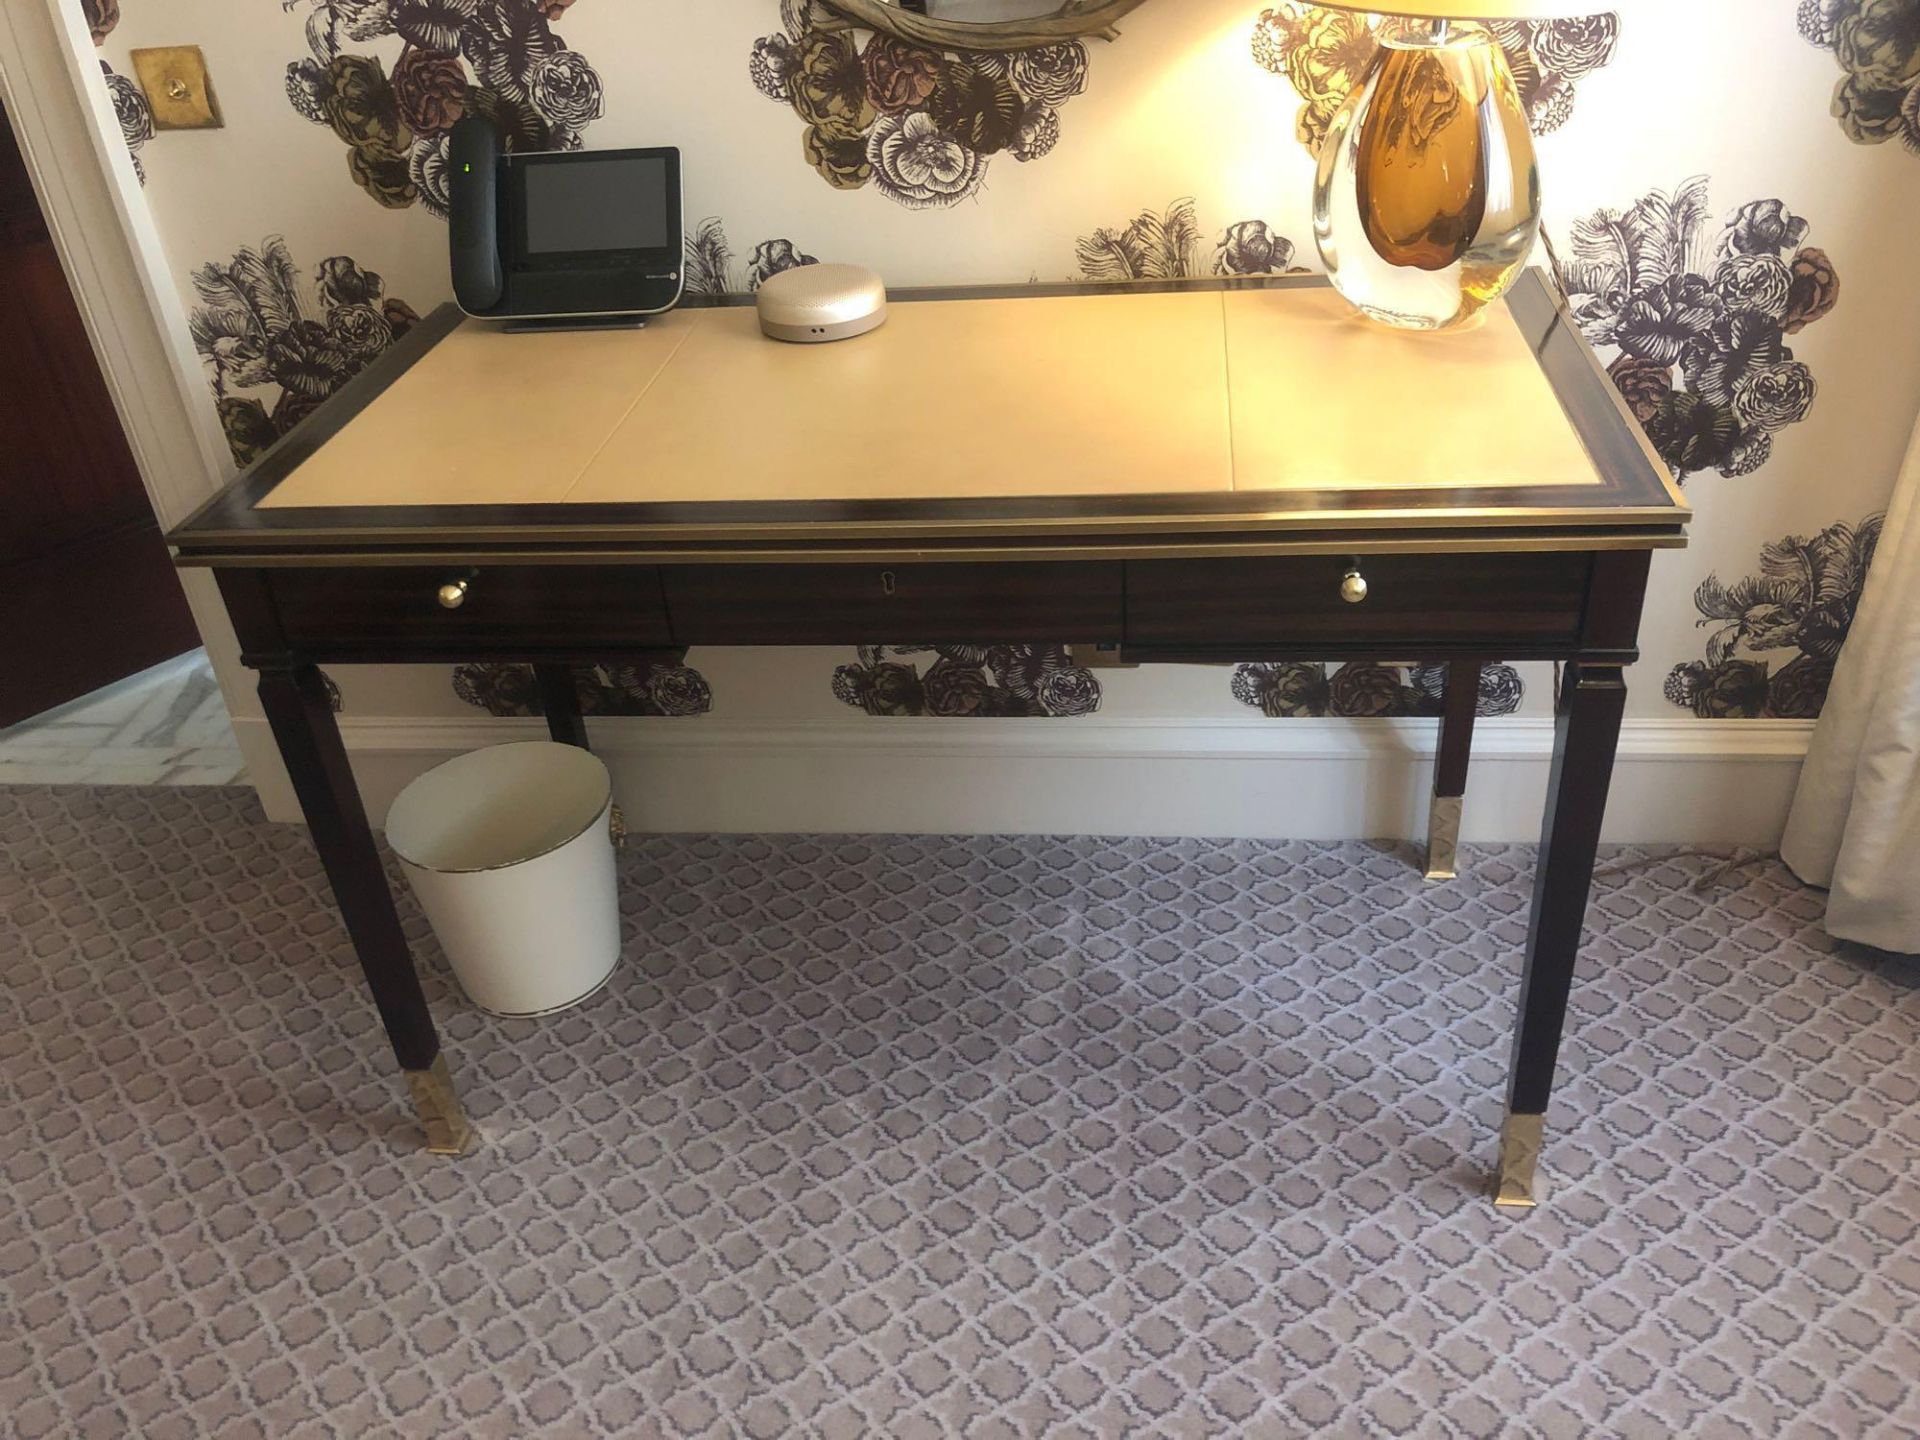
[[[831,346],[766,340],[751,307],[468,321],[261,505],[1436,484],[1599,476],[1503,305],[1404,334],[1315,288],[920,301]]]

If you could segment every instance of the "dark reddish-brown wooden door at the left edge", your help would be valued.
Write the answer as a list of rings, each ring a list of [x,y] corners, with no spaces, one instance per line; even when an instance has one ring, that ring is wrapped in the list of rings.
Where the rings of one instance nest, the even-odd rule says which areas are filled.
[[[198,643],[0,109],[0,726]]]

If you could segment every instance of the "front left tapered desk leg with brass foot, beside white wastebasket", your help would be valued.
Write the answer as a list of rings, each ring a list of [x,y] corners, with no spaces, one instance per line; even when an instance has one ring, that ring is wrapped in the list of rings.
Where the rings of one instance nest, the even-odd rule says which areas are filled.
[[[380,1023],[407,1071],[407,1091],[426,1127],[426,1148],[461,1154],[472,1144],[474,1131],[440,1054],[440,1035],[434,1033],[367,808],[340,743],[326,682],[311,664],[261,670],[259,701],[359,954],[367,989],[380,1010]]]

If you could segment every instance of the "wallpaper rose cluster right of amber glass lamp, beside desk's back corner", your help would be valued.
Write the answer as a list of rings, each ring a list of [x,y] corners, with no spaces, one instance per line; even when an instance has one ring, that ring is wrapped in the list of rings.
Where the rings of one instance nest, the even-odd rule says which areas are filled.
[[[1672,472],[1751,474],[1812,409],[1812,371],[1786,338],[1832,313],[1839,275],[1780,200],[1713,234],[1707,177],[1572,227],[1567,288],[1580,328],[1611,348],[1615,384]]]

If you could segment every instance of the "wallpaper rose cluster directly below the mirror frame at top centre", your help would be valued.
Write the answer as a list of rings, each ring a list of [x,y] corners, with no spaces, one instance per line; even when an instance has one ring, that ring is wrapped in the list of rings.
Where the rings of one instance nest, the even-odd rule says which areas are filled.
[[[1087,90],[1079,40],[1010,56],[937,52],[889,35],[829,29],[799,0],[785,29],[747,63],[768,100],[804,123],[801,154],[835,190],[872,184],[908,209],[975,196],[1000,154],[1041,159],[1060,142],[1060,109]]]

